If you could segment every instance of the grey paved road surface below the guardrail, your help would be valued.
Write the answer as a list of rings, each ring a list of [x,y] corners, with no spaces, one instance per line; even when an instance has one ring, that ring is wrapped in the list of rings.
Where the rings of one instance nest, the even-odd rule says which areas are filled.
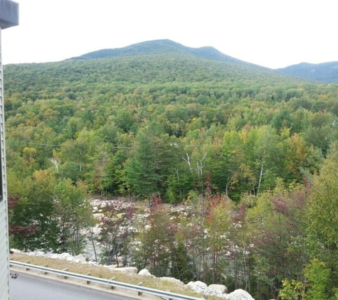
[[[110,294],[84,286],[67,284],[56,280],[36,277],[18,272],[10,279],[10,300],[134,300],[122,295]]]

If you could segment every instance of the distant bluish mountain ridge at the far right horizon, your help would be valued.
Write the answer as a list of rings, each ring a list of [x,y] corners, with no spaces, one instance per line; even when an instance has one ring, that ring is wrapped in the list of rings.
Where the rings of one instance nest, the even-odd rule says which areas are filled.
[[[277,69],[280,73],[295,75],[325,83],[338,83],[338,61],[329,63],[299,63]]]

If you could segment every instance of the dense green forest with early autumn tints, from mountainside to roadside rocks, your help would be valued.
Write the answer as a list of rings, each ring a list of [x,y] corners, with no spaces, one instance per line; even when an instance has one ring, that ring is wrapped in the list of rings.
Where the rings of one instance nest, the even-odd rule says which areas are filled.
[[[4,66],[12,247],[78,254],[88,198],[122,195],[150,203],[149,225],[120,232],[134,208],[107,210],[102,262],[337,299],[338,85],[152,45]]]

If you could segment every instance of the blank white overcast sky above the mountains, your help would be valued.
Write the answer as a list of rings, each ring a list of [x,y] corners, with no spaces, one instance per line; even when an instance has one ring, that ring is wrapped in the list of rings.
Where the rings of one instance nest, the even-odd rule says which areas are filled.
[[[169,38],[282,68],[338,61],[337,0],[17,0],[3,63],[64,60]]]

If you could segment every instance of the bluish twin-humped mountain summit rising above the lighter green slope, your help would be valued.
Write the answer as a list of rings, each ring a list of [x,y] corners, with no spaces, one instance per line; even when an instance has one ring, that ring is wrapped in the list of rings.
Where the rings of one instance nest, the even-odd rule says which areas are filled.
[[[240,65],[254,65],[243,60],[238,60],[229,55],[223,54],[213,47],[190,48],[180,43],[164,40],[145,41],[128,45],[124,48],[102,49],[70,58],[70,60],[90,60],[95,58],[117,58],[124,56],[136,56],[159,53],[181,53],[190,54],[197,58],[206,58],[208,60],[218,60],[226,63],[236,63]],[[257,65],[258,66],[258,65]],[[263,68],[263,67],[260,67]]]

